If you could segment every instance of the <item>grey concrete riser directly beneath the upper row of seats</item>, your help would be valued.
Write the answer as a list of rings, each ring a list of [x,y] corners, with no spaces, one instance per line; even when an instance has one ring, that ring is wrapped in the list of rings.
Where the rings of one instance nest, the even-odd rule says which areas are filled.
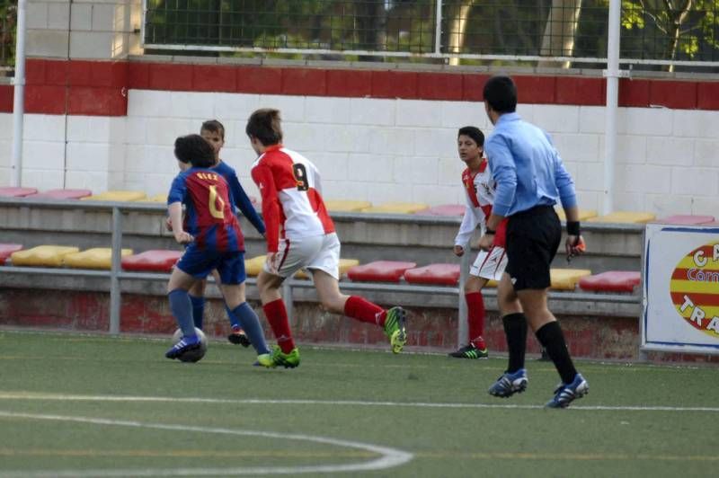
[[[164,230],[166,208],[157,203],[112,203],[97,201],[53,201],[0,198],[0,230],[4,242],[31,247],[58,245],[102,246],[111,239],[112,208],[122,211],[123,247],[176,248],[171,233]],[[333,213],[342,241],[342,257],[361,262],[412,260],[418,264],[453,262],[459,217]],[[262,237],[241,219],[248,255],[264,252]],[[640,270],[644,248],[644,225],[585,223],[582,234],[589,252],[575,258],[571,267],[604,270]],[[567,267],[564,251],[557,253],[555,267]]]

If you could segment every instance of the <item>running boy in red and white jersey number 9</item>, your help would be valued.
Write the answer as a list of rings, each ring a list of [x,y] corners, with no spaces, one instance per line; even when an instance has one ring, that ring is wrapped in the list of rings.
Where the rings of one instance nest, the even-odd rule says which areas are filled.
[[[280,111],[254,111],[245,132],[259,155],[252,176],[262,194],[262,218],[267,229],[267,261],[257,278],[257,288],[278,342],[271,355],[258,358],[260,365],[299,365],[299,350],[289,330],[280,286],[300,269],[312,274],[326,310],[383,327],[392,351],[399,353],[407,341],[404,309],[385,310],[362,297],[340,292],[340,241],[324,208],[320,175],[306,157],[282,146]]]

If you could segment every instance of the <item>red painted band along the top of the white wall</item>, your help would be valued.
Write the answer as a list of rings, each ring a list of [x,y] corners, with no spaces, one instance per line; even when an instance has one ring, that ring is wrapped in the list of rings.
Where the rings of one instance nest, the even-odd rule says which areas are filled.
[[[489,78],[471,73],[40,58],[29,59],[26,72],[27,112],[101,116],[127,114],[129,89],[481,102]],[[601,106],[605,102],[603,78],[513,77],[522,103]],[[0,86],[0,111],[12,111],[12,99],[12,86]],[[623,78],[619,105],[719,111],[719,82]]]

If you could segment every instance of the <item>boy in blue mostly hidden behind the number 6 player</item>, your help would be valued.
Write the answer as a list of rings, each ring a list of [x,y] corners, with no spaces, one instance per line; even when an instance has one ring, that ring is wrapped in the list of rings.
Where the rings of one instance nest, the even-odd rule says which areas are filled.
[[[234,208],[239,208],[240,212],[250,221],[258,233],[264,235],[264,223],[262,218],[253,207],[252,200],[244,192],[240,181],[237,179],[237,173],[232,166],[224,163],[219,157],[219,152],[223,146],[225,146],[225,127],[217,120],[207,120],[202,123],[200,128],[200,136],[204,137],[205,140],[212,146],[215,153],[215,164],[212,166],[212,170],[222,175],[227,181],[229,186],[230,199],[233,203]],[[219,276],[217,271],[212,272],[215,282],[219,283]],[[190,289],[190,300],[192,303],[192,318],[195,321],[195,327],[202,329],[203,317],[205,314],[205,288],[207,287],[207,280],[199,280]],[[227,336],[227,340],[242,345],[243,347],[249,347],[251,341],[247,338],[243,330],[241,318],[235,317],[234,314],[225,305],[227,317],[229,318],[232,330]]]

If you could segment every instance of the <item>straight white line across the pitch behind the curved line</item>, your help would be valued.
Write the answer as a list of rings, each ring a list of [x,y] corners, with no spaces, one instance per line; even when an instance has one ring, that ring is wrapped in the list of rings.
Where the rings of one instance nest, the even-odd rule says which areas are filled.
[[[369,407],[416,407],[416,408],[494,408],[537,410],[543,405],[519,405],[512,403],[425,403],[425,402],[364,402],[360,400],[272,400],[260,398],[202,398],[202,397],[162,397],[162,396],[122,396],[122,395],[73,395],[40,394],[31,392],[0,392],[0,400],[49,400],[66,402],[161,402],[161,403],[229,403],[242,405],[335,405]],[[719,407],[673,407],[662,405],[578,405],[572,410],[616,412],[719,412]]]

